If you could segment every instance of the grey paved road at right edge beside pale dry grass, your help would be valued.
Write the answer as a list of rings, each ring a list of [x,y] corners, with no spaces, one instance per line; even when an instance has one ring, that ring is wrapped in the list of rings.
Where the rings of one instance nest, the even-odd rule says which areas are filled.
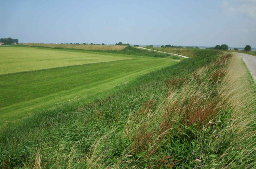
[[[236,53],[242,57],[244,63],[246,64],[247,68],[252,74],[254,81],[256,82],[256,56],[248,55],[248,54],[241,54]]]

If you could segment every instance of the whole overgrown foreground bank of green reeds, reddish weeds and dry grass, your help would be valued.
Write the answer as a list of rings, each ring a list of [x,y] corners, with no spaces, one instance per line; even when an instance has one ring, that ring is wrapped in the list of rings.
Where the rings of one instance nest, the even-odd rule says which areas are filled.
[[[0,165],[255,167],[255,83],[230,54],[196,54],[106,99],[46,110],[7,129]]]

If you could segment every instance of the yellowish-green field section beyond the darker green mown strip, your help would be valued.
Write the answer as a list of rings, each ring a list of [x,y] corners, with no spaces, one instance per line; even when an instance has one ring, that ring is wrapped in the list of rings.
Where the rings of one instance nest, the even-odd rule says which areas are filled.
[[[0,47],[0,57],[0,74],[131,59],[114,54],[24,47]]]

